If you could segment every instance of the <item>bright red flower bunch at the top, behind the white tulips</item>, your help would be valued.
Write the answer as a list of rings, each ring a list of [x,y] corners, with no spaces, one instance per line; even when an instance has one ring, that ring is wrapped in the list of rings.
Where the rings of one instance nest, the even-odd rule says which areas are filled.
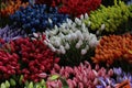
[[[80,16],[80,14],[96,10],[100,3],[101,0],[63,0],[59,12],[68,13],[72,16]]]

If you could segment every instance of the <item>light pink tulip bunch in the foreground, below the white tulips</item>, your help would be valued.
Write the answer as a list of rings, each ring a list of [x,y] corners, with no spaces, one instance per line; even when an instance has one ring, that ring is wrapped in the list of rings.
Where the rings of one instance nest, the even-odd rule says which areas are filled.
[[[98,65],[92,69],[88,62],[85,62],[84,64],[80,63],[79,66],[75,66],[74,68],[69,66],[59,67],[55,64],[51,73],[53,75],[59,74],[62,77],[65,77],[69,88],[95,88],[99,85],[99,77],[110,78],[113,76],[112,69],[107,70],[103,67],[100,68]],[[62,88],[63,86],[63,82],[59,79],[51,81],[47,78],[46,84],[48,88]]]

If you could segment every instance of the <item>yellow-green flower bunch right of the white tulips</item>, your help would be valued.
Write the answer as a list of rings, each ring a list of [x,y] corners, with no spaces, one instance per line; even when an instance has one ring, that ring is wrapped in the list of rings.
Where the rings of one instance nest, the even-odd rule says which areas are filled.
[[[111,33],[117,32],[118,29],[120,29],[120,31],[125,30],[125,24],[130,18],[132,18],[130,7],[120,2],[117,6],[108,8],[101,6],[100,9],[90,13],[87,21],[91,22],[90,30]]]

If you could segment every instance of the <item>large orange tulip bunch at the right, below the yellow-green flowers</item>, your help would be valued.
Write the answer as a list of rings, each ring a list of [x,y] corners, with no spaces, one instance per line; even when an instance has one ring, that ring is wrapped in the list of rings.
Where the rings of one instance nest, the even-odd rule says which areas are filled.
[[[120,58],[132,64],[132,34],[103,36],[91,58],[95,63],[108,65]]]

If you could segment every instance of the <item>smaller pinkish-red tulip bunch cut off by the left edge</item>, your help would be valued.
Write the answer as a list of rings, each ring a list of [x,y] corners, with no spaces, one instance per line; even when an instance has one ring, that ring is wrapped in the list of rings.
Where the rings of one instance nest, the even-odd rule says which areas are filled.
[[[19,56],[0,50],[0,80],[7,79],[20,73]]]

